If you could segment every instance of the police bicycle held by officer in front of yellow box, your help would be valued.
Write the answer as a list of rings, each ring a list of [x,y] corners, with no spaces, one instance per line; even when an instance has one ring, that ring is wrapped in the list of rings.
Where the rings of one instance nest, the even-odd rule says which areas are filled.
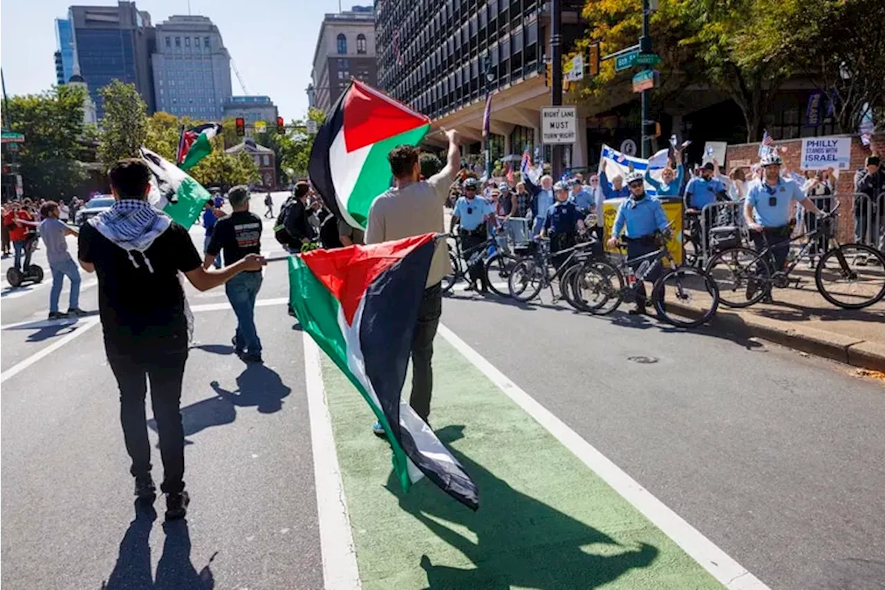
[[[673,221],[667,229],[671,226]],[[590,314],[611,314],[622,302],[637,301],[642,281],[666,262],[646,298],[654,303],[658,317],[679,328],[709,322],[719,307],[719,286],[703,269],[676,266],[666,246],[668,235],[669,231],[656,233],[657,250],[634,259],[625,257],[618,264],[586,260],[572,277],[575,303]],[[627,244],[620,242],[619,246],[624,249]]]

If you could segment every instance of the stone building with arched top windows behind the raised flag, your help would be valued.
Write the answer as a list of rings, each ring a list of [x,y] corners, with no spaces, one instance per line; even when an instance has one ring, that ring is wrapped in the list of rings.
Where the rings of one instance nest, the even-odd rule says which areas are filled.
[[[313,51],[308,100],[328,112],[351,78],[378,85],[375,57],[375,12],[372,6],[327,14]]]

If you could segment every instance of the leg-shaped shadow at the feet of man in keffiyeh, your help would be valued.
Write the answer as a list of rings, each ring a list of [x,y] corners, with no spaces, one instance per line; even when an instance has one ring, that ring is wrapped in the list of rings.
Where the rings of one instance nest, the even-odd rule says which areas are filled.
[[[178,520],[163,524],[165,541],[163,555],[157,565],[156,581],[150,572],[150,529],[157,512],[152,505],[135,503],[135,519],[129,524],[119,544],[117,564],[102,590],[212,590],[215,578],[210,565],[196,571],[190,563],[190,533],[188,521]],[[217,555],[217,554],[216,554]]]

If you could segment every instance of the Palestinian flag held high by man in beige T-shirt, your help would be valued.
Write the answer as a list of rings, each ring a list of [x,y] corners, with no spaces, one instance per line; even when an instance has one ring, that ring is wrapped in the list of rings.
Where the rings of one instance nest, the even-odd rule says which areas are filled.
[[[428,128],[424,115],[350,82],[313,140],[307,165],[313,188],[338,219],[365,229],[374,198],[390,188],[388,152],[418,145]]]

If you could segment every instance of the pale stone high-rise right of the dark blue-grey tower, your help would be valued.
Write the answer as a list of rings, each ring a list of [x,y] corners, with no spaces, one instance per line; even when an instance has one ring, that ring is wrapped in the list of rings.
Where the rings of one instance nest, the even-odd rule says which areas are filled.
[[[220,120],[233,93],[230,55],[219,28],[204,16],[173,16],[156,28],[152,66],[157,110]]]

